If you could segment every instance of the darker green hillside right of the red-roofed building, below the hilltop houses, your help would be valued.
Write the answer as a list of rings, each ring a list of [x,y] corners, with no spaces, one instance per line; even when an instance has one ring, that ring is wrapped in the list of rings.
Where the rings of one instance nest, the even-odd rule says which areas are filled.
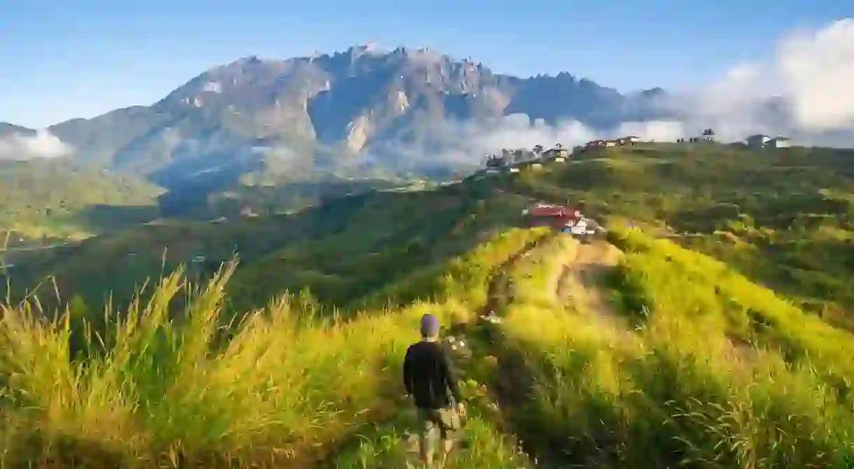
[[[643,223],[854,330],[854,152],[717,144],[592,150],[506,182]]]

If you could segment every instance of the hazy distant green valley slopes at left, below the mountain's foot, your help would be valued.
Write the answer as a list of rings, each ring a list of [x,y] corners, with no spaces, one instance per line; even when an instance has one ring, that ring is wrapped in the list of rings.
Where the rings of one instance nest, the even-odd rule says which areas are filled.
[[[65,159],[0,161],[0,229],[14,231],[8,247],[33,246],[39,240],[52,244],[57,239],[110,233],[159,217],[208,221],[249,214],[271,216],[407,181],[377,171],[301,174],[286,165],[265,165],[245,173],[219,172],[190,182],[171,181],[174,187],[167,190],[141,178]]]

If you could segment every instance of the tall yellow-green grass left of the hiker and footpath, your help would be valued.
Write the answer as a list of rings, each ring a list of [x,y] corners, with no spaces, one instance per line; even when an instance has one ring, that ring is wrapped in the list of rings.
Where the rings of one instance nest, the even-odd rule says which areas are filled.
[[[441,303],[337,321],[284,296],[244,316],[227,342],[218,326],[233,264],[202,287],[180,271],[162,279],[86,359],[71,356],[68,316],[5,309],[0,466],[312,466],[366,422],[395,416],[418,317],[465,321],[491,270],[539,235],[497,234],[450,263],[442,278],[455,289]],[[189,299],[171,316],[176,298]]]

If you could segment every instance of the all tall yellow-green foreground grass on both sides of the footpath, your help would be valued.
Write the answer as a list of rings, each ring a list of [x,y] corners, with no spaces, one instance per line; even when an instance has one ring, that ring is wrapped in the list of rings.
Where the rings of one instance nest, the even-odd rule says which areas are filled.
[[[626,256],[602,286],[617,318],[584,314],[553,288],[576,241],[546,233],[497,234],[388,290],[417,298],[409,306],[350,321],[285,295],[221,330],[233,265],[204,286],[162,279],[85,358],[72,356],[68,316],[3,310],[0,466],[400,466],[414,416],[399,367],[418,317],[470,321],[490,283],[504,296],[502,334],[472,346],[520,356],[511,378],[533,382],[495,414],[477,381],[493,385],[497,370],[485,358],[465,370],[471,446],[449,467],[531,466],[508,428],[578,466],[851,466],[845,334],[628,230],[612,236]],[[534,240],[544,243],[507,263]]]

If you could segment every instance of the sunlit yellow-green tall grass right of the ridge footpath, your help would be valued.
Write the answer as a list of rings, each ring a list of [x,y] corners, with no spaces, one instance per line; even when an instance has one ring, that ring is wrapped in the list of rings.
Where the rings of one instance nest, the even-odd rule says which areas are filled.
[[[826,375],[810,372],[828,364],[829,354],[816,362],[804,356],[793,366],[787,350],[769,343],[735,359],[726,327],[731,308],[722,298],[717,306],[699,307],[700,298],[716,287],[742,304],[760,294],[728,290],[734,274],[720,269],[717,276],[687,275],[712,262],[699,254],[672,245],[666,246],[670,255],[653,252],[651,243],[661,247],[664,241],[624,233],[617,239],[621,235],[629,253],[611,287],[644,299],[651,310],[646,321],[629,316],[623,330],[603,327],[571,306],[549,305],[545,293],[507,306],[503,345],[522,354],[535,377],[532,397],[514,413],[522,431],[586,466],[850,467],[851,404]],[[520,263],[518,289],[543,292],[545,275],[561,262],[559,252],[573,248],[567,243],[556,239]],[[770,292],[759,298],[775,301]],[[614,304],[632,302],[618,297]],[[799,319],[786,308],[780,315]],[[809,327],[815,326],[805,324],[804,336],[790,339],[799,347],[814,341]]]

